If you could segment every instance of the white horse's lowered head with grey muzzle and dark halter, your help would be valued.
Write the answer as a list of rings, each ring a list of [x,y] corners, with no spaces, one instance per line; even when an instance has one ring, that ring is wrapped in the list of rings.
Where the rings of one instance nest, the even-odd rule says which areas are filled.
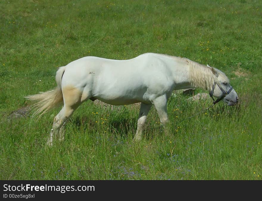
[[[209,92],[212,98],[213,96],[217,97],[217,100],[214,101],[214,104],[219,102],[220,100],[223,100],[229,106],[236,105],[236,103],[238,102],[238,95],[236,91],[231,87],[227,76],[222,71],[216,68],[210,67],[210,69],[216,78]]]

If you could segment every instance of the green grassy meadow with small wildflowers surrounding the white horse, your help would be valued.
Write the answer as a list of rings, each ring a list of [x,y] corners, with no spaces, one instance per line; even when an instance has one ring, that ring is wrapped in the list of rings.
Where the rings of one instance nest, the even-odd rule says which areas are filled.
[[[9,0],[0,11],[0,179],[262,178],[261,1]],[[171,97],[170,133],[152,108],[140,143],[132,141],[138,108],[130,106],[85,102],[64,142],[51,148],[46,139],[59,108],[38,121],[7,120],[30,104],[24,96],[55,87],[57,67],[83,56],[146,52],[222,70],[239,104],[186,119],[211,100]]]

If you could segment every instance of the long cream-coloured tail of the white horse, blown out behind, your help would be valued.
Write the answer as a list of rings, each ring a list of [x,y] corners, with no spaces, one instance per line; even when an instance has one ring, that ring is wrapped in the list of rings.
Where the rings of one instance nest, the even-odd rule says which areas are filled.
[[[52,109],[55,106],[58,106],[62,101],[63,101],[63,93],[62,93],[62,87],[61,87],[61,82],[62,82],[62,77],[65,72],[66,67],[60,67],[55,76],[55,81],[57,83],[57,87],[46,91],[46,92],[40,92],[35,95],[29,95],[26,96],[25,98],[28,100],[35,100],[37,101],[34,105],[32,105],[33,108],[33,115],[36,116],[38,114],[43,115],[50,109]]]

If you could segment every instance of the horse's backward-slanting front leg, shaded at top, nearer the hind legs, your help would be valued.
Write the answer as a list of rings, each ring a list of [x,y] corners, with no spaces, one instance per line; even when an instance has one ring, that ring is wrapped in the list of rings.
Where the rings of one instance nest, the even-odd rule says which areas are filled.
[[[140,141],[142,139],[143,129],[146,123],[146,117],[151,107],[152,107],[152,104],[147,105],[147,104],[141,103],[140,105],[139,118],[137,122],[137,131],[134,137],[135,141]]]

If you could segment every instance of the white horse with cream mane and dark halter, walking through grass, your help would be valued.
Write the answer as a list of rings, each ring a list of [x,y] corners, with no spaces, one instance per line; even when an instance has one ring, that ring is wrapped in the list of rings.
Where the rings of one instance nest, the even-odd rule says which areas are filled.
[[[82,102],[99,99],[111,105],[128,105],[141,102],[138,128],[134,139],[140,140],[147,114],[155,105],[160,122],[166,126],[167,100],[173,90],[203,88],[210,96],[218,97],[227,105],[238,102],[236,91],[220,70],[200,65],[186,58],[156,53],[145,53],[129,60],[112,60],[87,56],[57,70],[57,87],[53,90],[26,96],[37,100],[35,113],[43,114],[63,102],[61,111],[54,117],[48,138],[59,134],[64,139],[66,120]]]

